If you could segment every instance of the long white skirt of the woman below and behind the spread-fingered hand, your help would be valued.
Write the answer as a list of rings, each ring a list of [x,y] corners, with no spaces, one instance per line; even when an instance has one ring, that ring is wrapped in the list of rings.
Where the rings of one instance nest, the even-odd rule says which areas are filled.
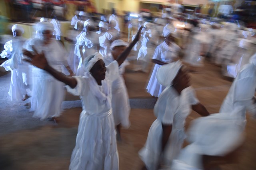
[[[65,97],[65,84],[42,71],[33,68],[31,97],[33,117],[38,117],[41,120],[49,117],[59,117],[62,112],[61,103]]]

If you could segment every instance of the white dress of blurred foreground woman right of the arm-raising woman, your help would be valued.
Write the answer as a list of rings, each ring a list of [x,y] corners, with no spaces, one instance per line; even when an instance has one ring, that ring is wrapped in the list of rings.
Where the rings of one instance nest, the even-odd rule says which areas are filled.
[[[164,165],[169,166],[178,156],[186,138],[184,130],[186,117],[190,114],[191,105],[196,104],[198,99],[192,87],[184,89],[181,95],[178,95],[172,86],[164,89],[154,107],[157,119],[150,127],[146,144],[139,151],[140,158],[148,170],[157,170],[161,157],[164,159]],[[162,124],[172,125],[164,155],[161,155]]]

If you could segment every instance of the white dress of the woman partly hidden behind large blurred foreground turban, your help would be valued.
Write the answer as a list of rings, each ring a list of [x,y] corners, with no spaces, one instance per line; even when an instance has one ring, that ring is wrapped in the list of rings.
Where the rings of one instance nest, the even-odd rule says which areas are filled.
[[[166,42],[162,42],[160,45],[156,47],[152,59],[158,59],[166,63],[171,63],[178,57],[179,50],[180,47],[175,43],[172,43],[170,46],[168,46]],[[147,86],[148,93],[155,97],[159,97],[159,95],[165,89],[165,87],[159,84],[156,79],[156,73],[160,67],[161,65],[155,64]]]

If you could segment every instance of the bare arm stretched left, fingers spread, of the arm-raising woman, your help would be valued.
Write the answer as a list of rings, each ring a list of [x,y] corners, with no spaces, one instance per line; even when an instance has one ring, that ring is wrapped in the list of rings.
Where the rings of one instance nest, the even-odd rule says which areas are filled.
[[[76,79],[74,77],[69,77],[66,76],[65,74],[56,71],[54,68],[52,68],[46,58],[44,57],[44,53],[38,53],[36,51],[36,49],[34,48],[34,46],[32,47],[32,49],[34,50],[35,54],[32,54],[30,51],[28,50],[23,50],[23,54],[28,56],[30,59],[24,59],[25,61],[27,61],[28,63],[43,69],[45,71],[47,71],[48,73],[50,73],[53,77],[55,77],[57,80],[62,81],[63,83],[65,83],[66,85],[69,85],[71,88],[75,88],[76,87]]]

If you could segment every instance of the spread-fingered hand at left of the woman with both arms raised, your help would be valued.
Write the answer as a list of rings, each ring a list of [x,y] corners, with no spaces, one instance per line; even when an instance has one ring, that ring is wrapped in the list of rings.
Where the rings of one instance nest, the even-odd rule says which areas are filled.
[[[32,54],[30,51],[24,49],[23,51],[23,55],[28,56],[30,59],[24,59],[24,61],[40,68],[40,69],[44,69],[46,70],[47,67],[49,66],[44,53],[38,53],[34,47],[34,45],[32,46],[32,49],[34,51],[35,54]]]

